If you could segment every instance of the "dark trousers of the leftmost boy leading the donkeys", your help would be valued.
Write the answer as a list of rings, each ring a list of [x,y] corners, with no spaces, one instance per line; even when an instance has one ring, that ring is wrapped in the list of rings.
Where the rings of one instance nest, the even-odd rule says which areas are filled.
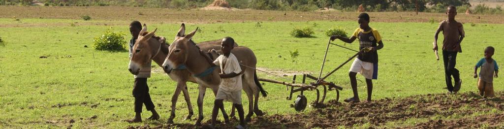
[[[135,97],[135,112],[142,112],[143,104],[145,104],[148,111],[154,109],[154,103],[152,103],[151,95],[149,95],[147,78],[135,78],[133,96]]]

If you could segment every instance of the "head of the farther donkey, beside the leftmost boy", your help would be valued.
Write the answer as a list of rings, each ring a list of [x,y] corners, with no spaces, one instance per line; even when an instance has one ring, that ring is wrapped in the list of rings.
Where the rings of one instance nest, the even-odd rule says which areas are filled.
[[[151,61],[158,52],[160,42],[152,38],[156,30],[149,33],[147,32],[147,25],[144,24],[143,29],[140,31],[137,41],[133,45],[130,66],[128,67],[132,74],[138,75],[140,68]]]

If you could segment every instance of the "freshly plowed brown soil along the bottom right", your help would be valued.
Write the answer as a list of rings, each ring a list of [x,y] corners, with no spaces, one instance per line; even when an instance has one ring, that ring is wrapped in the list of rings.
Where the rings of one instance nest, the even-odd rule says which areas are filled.
[[[340,103],[329,101],[323,108],[299,114],[257,116],[248,122],[253,128],[337,128],[340,126],[394,128],[479,128],[504,127],[504,96],[484,99],[476,93],[418,95],[407,98],[385,98],[372,102]],[[412,119],[413,124],[391,124]],[[209,122],[209,121],[207,121]],[[232,128],[238,123],[220,124]],[[195,128],[191,124],[161,124],[155,127],[130,128]]]

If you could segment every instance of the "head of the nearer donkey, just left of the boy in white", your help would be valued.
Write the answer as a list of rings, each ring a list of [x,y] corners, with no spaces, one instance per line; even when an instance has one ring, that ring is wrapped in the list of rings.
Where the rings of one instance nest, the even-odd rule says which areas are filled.
[[[173,69],[179,69],[185,65],[191,48],[188,45],[194,45],[191,39],[196,34],[197,30],[198,28],[185,35],[185,25],[182,24],[180,26],[175,40],[173,40],[173,43],[168,47],[168,56],[166,56],[163,63],[163,69],[166,73],[169,74]]]

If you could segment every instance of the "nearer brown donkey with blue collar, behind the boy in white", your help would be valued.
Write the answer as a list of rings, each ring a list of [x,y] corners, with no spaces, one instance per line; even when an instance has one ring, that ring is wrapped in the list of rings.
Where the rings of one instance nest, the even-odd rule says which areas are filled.
[[[197,30],[198,29],[194,30],[191,33],[188,33],[187,35],[184,35],[185,26],[184,24],[182,24],[179,32],[175,36],[175,40],[169,46],[169,53],[163,63],[163,69],[166,72],[170,73],[173,72],[174,69],[184,66],[191,74],[194,74],[196,81],[200,85],[200,92],[198,96],[199,117],[196,123],[198,125],[201,125],[201,121],[203,120],[203,98],[205,96],[206,88],[219,87],[221,78],[219,77],[220,68],[212,67],[210,64],[211,62],[209,62],[205,57],[206,55],[200,52],[209,51],[215,48],[208,47],[208,45],[197,46],[191,40]],[[232,53],[236,56],[241,64],[252,68],[256,67],[256,55],[249,48],[244,46],[235,47],[232,50]],[[213,56],[217,57],[216,54],[214,54]],[[243,91],[245,91],[249,102],[248,114],[246,115],[245,119],[250,120],[250,117],[254,114],[254,112],[256,113],[256,115],[263,115],[263,112],[259,110],[258,107],[259,92],[261,92],[263,96],[266,96],[267,92],[264,91],[264,89],[261,87],[261,84],[257,80],[255,69],[245,69],[244,67],[241,68],[245,71],[242,76]],[[217,91],[214,90],[214,92]]]

